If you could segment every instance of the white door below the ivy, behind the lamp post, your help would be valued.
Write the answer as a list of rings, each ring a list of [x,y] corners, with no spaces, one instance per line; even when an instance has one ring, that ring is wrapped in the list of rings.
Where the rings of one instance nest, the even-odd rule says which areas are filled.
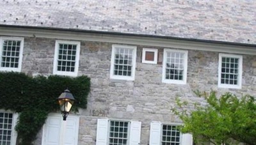
[[[77,145],[78,126],[79,116],[69,115],[63,121],[60,114],[49,114],[44,125],[42,145]]]

